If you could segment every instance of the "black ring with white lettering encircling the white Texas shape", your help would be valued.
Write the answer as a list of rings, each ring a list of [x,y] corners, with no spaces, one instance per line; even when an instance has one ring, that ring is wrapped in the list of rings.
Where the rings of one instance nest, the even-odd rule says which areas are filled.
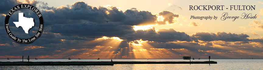
[[[29,5],[29,4],[19,4],[19,5],[16,5],[16,6],[14,6],[12,9],[10,9],[9,12],[12,11],[14,8],[20,6],[20,5]],[[29,5],[29,6],[35,8],[36,10],[38,10],[36,7],[34,7],[34,6],[32,6],[32,5]],[[20,6],[20,7],[21,7],[21,6]],[[33,8],[32,8],[32,9],[33,9]],[[28,7],[21,7],[21,8],[19,8],[19,9],[30,9],[30,8],[28,8]],[[9,28],[9,19],[10,19],[10,17],[12,16],[12,14],[13,14],[14,12],[16,12],[16,11],[19,10],[19,9],[16,9],[15,11],[13,11],[13,12],[10,14],[10,16],[8,16],[8,15],[9,15],[9,12],[8,12],[7,15],[5,16],[5,31],[6,31],[7,35],[8,35],[12,40],[16,41],[17,43],[21,43],[21,44],[31,43],[31,42],[37,40],[37,39],[41,36],[41,34],[42,34],[43,30],[44,30],[44,19],[43,19],[43,15],[40,13],[40,10],[38,10],[38,12],[40,13],[39,15],[41,15],[41,16],[38,16],[38,19],[39,19],[39,28],[38,28],[38,30],[37,30],[37,33],[36,33],[33,37],[30,37],[30,38],[27,38],[27,39],[20,39],[20,38],[16,37],[15,35],[13,35],[12,32],[11,32],[11,30],[10,30],[10,28]],[[30,9],[30,10],[32,10],[32,9]],[[32,11],[34,11],[34,10],[32,10]],[[35,12],[35,11],[34,11],[34,12]],[[37,12],[35,12],[35,13],[37,14]],[[42,26],[40,26],[41,24],[42,24]],[[41,29],[41,31],[40,31],[40,28],[41,28],[41,27],[42,27],[42,29]],[[12,34],[12,37],[13,37],[13,38],[16,38],[16,39],[13,39],[13,38],[11,37],[10,33]],[[40,34],[38,34],[38,33],[40,33]],[[27,42],[26,42],[26,40],[27,40]]]

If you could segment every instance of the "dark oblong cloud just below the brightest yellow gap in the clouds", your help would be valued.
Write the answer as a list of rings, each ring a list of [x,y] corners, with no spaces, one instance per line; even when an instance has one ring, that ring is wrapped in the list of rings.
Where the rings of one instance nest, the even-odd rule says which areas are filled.
[[[184,32],[178,32],[174,29],[159,29],[157,32],[155,28],[148,30],[137,30],[135,34],[124,37],[127,40],[149,40],[157,42],[171,42],[171,41],[192,41],[192,37]]]

